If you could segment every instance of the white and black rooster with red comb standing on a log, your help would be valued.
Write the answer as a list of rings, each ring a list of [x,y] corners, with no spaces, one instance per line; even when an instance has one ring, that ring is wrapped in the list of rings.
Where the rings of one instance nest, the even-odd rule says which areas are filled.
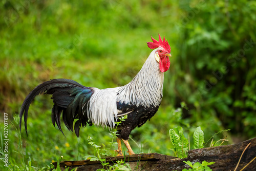
[[[21,130],[24,115],[27,133],[28,110],[32,100],[41,93],[52,94],[52,123],[60,126],[60,117],[66,127],[75,131],[79,137],[80,127],[87,124],[116,127],[122,116],[127,116],[117,125],[117,156],[122,156],[121,141],[134,155],[128,139],[131,131],[150,120],[158,110],[162,100],[164,73],[169,69],[170,46],[160,34],[159,41],[152,36],[153,42],[147,46],[154,49],[135,78],[122,87],[98,89],[86,87],[73,80],[53,79],[36,86],[24,100],[19,113]],[[76,119],[76,121],[75,121]],[[75,124],[74,124],[75,121]],[[74,125],[74,126],[73,126]],[[27,133],[28,134],[28,133]],[[64,135],[64,134],[63,134]]]

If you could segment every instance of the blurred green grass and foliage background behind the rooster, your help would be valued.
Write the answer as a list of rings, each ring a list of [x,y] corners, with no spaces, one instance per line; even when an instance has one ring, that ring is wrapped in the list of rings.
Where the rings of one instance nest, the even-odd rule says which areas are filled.
[[[255,1],[3,0],[0,11],[0,130],[3,135],[6,112],[10,168],[41,168],[60,156],[83,160],[95,153],[88,135],[107,145],[108,128],[88,126],[79,139],[65,128],[63,137],[51,123],[49,96],[32,103],[28,137],[23,126],[20,139],[20,106],[49,79],[98,88],[129,83],[152,51],[146,42],[158,33],[173,57],[159,111],[131,134],[135,153],[173,155],[168,130],[177,126],[186,137],[201,126],[205,142],[224,129],[231,130],[215,142],[255,137]]]

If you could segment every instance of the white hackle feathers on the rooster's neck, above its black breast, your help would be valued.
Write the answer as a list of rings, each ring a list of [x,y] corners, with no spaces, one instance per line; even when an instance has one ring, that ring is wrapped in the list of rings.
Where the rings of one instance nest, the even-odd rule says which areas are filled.
[[[150,107],[158,106],[162,99],[163,73],[155,60],[155,49],[148,56],[135,78],[119,89],[118,101],[133,105]]]

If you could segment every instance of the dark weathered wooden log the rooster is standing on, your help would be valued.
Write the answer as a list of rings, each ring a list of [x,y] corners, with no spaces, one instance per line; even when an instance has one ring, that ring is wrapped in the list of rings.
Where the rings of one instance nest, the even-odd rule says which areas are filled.
[[[224,145],[217,147],[201,148],[188,151],[188,157],[179,159],[172,156],[161,155],[157,153],[139,154],[131,156],[108,157],[106,161],[114,165],[116,160],[123,160],[128,162],[132,170],[182,170],[183,168],[190,168],[183,161],[195,162],[215,162],[209,165],[212,170],[234,170],[243,153],[245,147],[250,143],[248,148],[244,151],[240,164],[237,170],[242,169],[254,157],[256,157],[256,138],[247,140],[233,145]],[[57,163],[53,163],[56,167]],[[77,171],[81,170],[97,170],[103,168],[99,161],[63,161],[60,163],[61,170],[66,167],[71,169],[77,167]],[[137,169],[136,169],[137,168]],[[252,161],[244,170],[256,170],[256,159]]]

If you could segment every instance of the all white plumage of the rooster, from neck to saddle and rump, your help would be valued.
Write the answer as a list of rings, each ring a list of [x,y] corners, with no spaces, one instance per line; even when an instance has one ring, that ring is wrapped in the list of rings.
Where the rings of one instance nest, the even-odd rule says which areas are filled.
[[[95,125],[108,124],[115,127],[115,119],[120,113],[120,110],[117,110],[117,102],[144,107],[156,107],[161,103],[164,77],[155,57],[158,49],[151,52],[139,73],[129,84],[94,92],[87,106],[90,121]]]

